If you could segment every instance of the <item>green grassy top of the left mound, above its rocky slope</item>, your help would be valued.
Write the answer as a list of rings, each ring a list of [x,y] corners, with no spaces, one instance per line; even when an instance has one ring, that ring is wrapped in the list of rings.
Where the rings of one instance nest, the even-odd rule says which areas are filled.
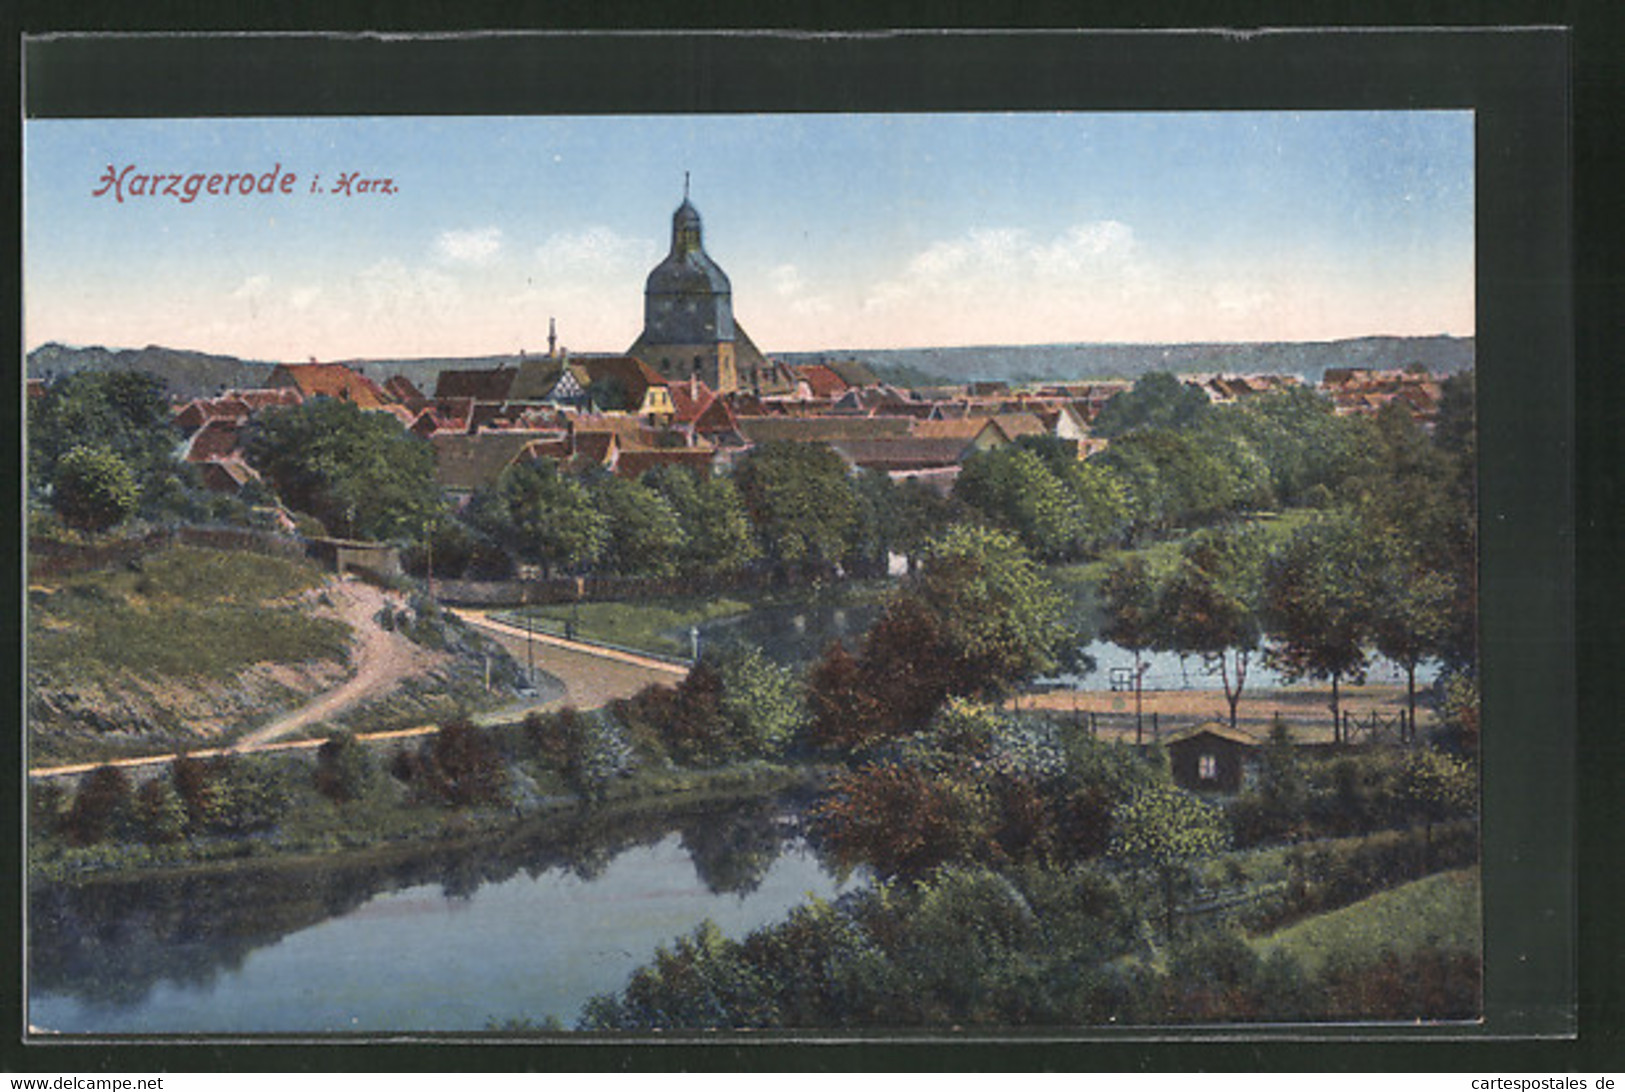
[[[176,546],[138,569],[31,587],[29,673],[228,679],[254,663],[344,656],[349,627],[291,601],[322,580],[299,561]]]

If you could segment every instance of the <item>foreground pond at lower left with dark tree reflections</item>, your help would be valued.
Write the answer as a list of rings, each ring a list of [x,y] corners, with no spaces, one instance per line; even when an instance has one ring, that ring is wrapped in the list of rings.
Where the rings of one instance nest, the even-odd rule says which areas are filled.
[[[460,1032],[619,990],[700,921],[728,936],[863,886],[793,804],[596,817],[504,845],[52,884],[29,897],[29,1024],[62,1034]]]

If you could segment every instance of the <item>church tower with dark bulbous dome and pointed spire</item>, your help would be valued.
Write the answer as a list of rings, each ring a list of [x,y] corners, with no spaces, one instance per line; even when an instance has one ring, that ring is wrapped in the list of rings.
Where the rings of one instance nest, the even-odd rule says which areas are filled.
[[[682,203],[671,214],[671,252],[644,284],[644,333],[627,349],[671,382],[699,379],[718,393],[739,387],[733,286],[705,254],[700,213]]]

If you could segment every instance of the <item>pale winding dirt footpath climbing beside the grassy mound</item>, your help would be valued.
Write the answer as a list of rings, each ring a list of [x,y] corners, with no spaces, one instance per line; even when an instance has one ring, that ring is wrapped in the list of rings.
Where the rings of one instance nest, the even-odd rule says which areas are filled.
[[[328,583],[325,592],[333,600],[333,618],[346,622],[354,632],[351,656],[358,665],[356,674],[291,713],[278,717],[263,728],[255,728],[236,743],[234,751],[262,748],[283,736],[291,736],[369,697],[392,691],[405,679],[432,671],[445,661],[444,652],[416,645],[405,635],[377,624],[375,616],[385,603],[396,611],[405,606],[401,596],[361,580]]]

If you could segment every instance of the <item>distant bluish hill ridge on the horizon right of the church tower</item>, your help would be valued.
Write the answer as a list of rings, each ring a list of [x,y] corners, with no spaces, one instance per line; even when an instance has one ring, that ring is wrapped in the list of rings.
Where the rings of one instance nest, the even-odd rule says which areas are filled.
[[[1328,367],[1404,367],[1425,364],[1432,372],[1472,367],[1474,340],[1350,338],[1346,341],[1240,341],[1201,344],[988,344],[938,349],[852,349],[775,353],[791,364],[863,361],[889,382],[923,387],[931,382],[1003,379],[1011,382],[1060,379],[1136,379],[1144,372],[1279,372],[1318,384]]]

